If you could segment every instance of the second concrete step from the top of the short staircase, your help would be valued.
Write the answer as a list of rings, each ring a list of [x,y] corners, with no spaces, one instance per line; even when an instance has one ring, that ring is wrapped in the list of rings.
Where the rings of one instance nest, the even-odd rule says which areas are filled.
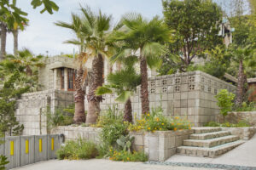
[[[219,131],[219,132],[213,132],[213,133],[194,133],[189,136],[189,139],[195,139],[195,140],[206,140],[206,139],[214,139],[219,138],[223,136],[230,135],[230,131]]]

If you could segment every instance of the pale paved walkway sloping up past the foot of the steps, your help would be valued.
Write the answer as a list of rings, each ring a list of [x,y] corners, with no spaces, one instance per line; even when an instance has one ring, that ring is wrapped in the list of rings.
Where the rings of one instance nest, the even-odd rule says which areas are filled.
[[[189,162],[189,163],[212,163],[226,164],[246,167],[256,167],[256,135],[246,143],[241,144],[234,150],[230,150],[223,156],[217,158],[197,157],[197,156],[172,156],[167,161]]]

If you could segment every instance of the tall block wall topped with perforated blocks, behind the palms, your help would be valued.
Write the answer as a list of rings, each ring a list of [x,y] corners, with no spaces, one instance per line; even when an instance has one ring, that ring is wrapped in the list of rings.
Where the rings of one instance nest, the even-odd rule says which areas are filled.
[[[148,81],[150,108],[161,106],[166,116],[182,116],[195,126],[202,126],[207,122],[215,121],[219,112],[215,95],[220,89],[235,92],[236,87],[228,82],[219,80],[202,71],[185,72],[162,77],[152,77]],[[141,116],[141,95],[137,92],[131,97],[132,109],[135,116]],[[124,104],[114,101],[114,94],[103,96],[102,111],[116,104],[119,110]],[[88,109],[85,100],[85,109]],[[134,117],[133,116],[133,117]]]

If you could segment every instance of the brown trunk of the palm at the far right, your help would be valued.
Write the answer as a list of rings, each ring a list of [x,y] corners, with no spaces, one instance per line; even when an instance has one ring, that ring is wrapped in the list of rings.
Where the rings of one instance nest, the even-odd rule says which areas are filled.
[[[237,82],[236,99],[235,99],[236,106],[240,106],[243,101],[243,97],[245,93],[244,77],[245,75],[244,75],[243,63],[241,59],[239,62],[239,70],[238,70],[238,78],[237,78],[238,82]]]

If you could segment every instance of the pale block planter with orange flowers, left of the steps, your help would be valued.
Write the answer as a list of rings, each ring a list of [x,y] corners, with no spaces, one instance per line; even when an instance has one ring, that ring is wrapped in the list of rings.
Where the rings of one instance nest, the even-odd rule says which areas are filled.
[[[154,133],[139,131],[130,132],[130,135],[135,137],[133,149],[144,150],[149,161],[166,161],[176,154],[177,147],[183,145],[183,140],[189,139],[192,133],[193,130],[156,131]]]

